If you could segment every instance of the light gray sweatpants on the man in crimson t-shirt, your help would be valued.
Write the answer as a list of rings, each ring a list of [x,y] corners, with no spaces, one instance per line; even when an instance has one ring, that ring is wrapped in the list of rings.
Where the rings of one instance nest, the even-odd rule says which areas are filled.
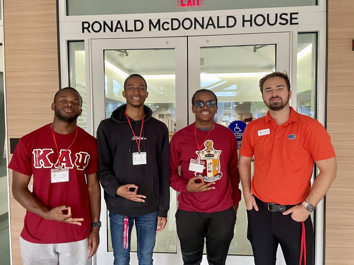
[[[90,265],[87,238],[58,244],[31,243],[20,237],[23,265]]]

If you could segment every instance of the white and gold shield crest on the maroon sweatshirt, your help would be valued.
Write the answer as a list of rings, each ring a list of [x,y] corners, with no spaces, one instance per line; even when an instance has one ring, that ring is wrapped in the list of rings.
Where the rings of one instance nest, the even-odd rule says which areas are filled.
[[[200,150],[199,159],[204,161],[205,166],[203,173],[195,172],[196,177],[203,177],[205,182],[212,182],[222,177],[220,171],[220,154],[221,150],[214,149],[214,142],[212,140],[206,140],[204,143],[205,148]],[[198,154],[198,151],[195,151]]]

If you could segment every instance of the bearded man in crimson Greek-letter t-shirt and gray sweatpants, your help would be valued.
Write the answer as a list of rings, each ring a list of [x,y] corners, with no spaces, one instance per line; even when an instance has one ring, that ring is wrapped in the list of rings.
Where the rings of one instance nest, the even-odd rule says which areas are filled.
[[[52,103],[53,123],[23,136],[8,165],[13,197],[27,210],[20,237],[24,265],[88,265],[97,251],[97,144],[76,126],[81,106],[74,88],[59,90]]]

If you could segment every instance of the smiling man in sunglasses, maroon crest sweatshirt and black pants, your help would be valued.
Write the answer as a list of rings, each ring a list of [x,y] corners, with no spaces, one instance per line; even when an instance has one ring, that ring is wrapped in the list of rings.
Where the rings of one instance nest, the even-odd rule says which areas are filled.
[[[176,226],[184,264],[201,263],[204,241],[208,263],[225,264],[234,236],[241,200],[237,141],[230,129],[214,123],[217,108],[212,91],[195,92],[195,123],[177,131],[170,143],[170,181],[179,192]]]

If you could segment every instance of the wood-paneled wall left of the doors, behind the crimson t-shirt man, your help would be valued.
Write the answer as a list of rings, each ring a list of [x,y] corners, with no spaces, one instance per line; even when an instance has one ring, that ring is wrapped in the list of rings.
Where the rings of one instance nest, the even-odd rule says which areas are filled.
[[[8,139],[53,120],[50,102],[59,89],[56,8],[56,0],[4,0]],[[22,264],[19,235],[25,210],[13,199],[11,184],[10,170],[12,261]]]

